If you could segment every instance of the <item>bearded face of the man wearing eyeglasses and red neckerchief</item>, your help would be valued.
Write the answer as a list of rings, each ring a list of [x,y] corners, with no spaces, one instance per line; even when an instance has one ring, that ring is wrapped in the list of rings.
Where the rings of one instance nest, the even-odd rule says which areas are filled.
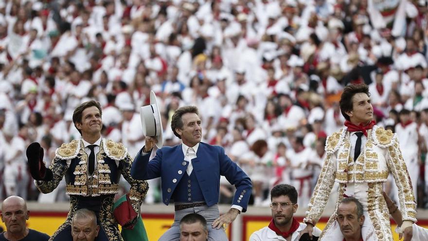
[[[279,197],[272,197],[272,203],[289,203],[285,209],[281,208],[281,205],[278,205],[276,209],[272,209],[272,218],[273,222],[277,227],[285,226],[293,220],[293,214],[296,212],[298,205],[291,204],[291,200],[288,196],[281,195]]]

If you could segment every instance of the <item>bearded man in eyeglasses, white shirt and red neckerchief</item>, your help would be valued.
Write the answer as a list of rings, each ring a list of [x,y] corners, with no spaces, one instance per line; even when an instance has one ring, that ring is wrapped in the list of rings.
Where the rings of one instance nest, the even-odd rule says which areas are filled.
[[[300,231],[306,224],[298,222],[294,213],[298,208],[297,191],[292,185],[276,185],[270,191],[270,208],[272,209],[272,221],[250,236],[250,241],[298,241]],[[321,235],[321,230],[314,227],[312,241],[317,241]],[[302,236],[299,241],[308,241],[309,236]]]

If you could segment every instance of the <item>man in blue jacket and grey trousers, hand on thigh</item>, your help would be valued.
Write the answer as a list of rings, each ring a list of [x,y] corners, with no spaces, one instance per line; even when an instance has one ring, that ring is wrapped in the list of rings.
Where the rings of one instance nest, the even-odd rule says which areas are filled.
[[[163,203],[168,205],[174,200],[174,223],[160,241],[178,241],[179,222],[189,213],[198,213],[211,224],[208,240],[227,241],[224,226],[247,210],[251,180],[222,147],[201,142],[201,120],[195,106],[179,108],[172,117],[171,128],[182,144],[158,149],[149,162],[156,139],[146,137],[131,168],[131,176],[137,180],[161,177]],[[217,206],[220,175],[236,187],[231,209],[221,216]]]

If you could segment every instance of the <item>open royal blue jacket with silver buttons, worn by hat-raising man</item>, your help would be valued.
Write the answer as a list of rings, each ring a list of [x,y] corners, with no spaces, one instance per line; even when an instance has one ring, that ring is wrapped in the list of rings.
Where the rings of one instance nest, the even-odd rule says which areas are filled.
[[[156,156],[149,162],[150,154],[142,155],[141,149],[134,159],[131,176],[137,180],[161,178],[162,201],[168,205],[175,188],[187,169],[187,161],[181,145],[158,149]],[[205,202],[212,206],[218,202],[220,175],[225,176],[236,192],[232,204],[247,210],[252,190],[250,177],[236,165],[219,146],[199,143],[196,158],[192,159],[193,172],[200,185]],[[180,171],[181,170],[181,171]]]

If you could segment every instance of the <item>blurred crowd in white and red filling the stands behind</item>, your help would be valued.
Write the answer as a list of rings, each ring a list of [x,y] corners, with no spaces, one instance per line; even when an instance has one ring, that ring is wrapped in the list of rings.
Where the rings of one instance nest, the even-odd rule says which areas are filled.
[[[104,137],[134,156],[153,90],[164,145],[179,143],[172,113],[196,105],[203,142],[249,174],[250,204],[268,205],[273,185],[309,182],[304,205],[326,137],[343,126],[341,90],[365,83],[428,207],[427,34],[426,0],[1,0],[0,200],[67,200],[65,183],[36,191],[25,150],[40,142],[49,166],[80,138],[72,111],[89,99],[103,106]],[[220,182],[230,204],[233,187]],[[149,183],[145,202],[160,202],[159,181]]]

